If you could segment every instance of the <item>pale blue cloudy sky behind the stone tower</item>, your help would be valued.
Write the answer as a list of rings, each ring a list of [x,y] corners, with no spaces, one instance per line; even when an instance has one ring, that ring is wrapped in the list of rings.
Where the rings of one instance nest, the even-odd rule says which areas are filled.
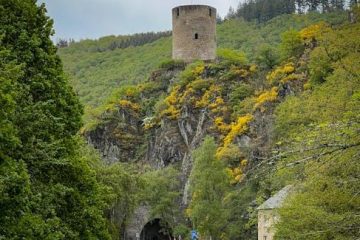
[[[59,38],[96,39],[107,35],[171,30],[171,9],[206,4],[225,16],[239,0],[39,0],[54,19]]]

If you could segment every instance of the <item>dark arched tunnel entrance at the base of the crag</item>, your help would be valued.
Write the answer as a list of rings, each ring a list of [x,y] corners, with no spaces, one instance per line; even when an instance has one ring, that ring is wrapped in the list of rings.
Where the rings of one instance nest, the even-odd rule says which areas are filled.
[[[148,222],[141,231],[141,240],[169,240],[171,239],[170,229],[163,226],[160,219]]]

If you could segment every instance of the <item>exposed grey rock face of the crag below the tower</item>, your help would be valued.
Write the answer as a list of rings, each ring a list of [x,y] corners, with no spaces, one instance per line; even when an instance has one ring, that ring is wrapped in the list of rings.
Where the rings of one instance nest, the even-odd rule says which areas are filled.
[[[150,83],[155,83],[157,87],[142,91],[138,102],[151,103],[161,99],[162,95],[168,96],[171,92],[169,86],[172,86],[174,82],[178,83],[178,74],[181,70],[183,69],[173,68],[154,72],[150,77]],[[205,68],[202,77],[210,79],[208,81],[214,83],[216,80],[213,81],[212,76],[208,76],[209,74]],[[245,81],[245,77],[240,75],[238,79],[233,80],[232,84],[236,85],[241,81]],[[231,91],[232,86],[229,82],[215,83],[221,85],[224,92],[221,95],[222,100],[219,101],[220,106],[222,106],[222,102],[230,104],[226,93]],[[202,91],[202,96],[205,96],[205,87],[198,89]],[[285,90],[284,95],[287,94]],[[207,90],[207,92],[209,91]],[[202,96],[197,97],[201,99]],[[235,136],[232,141],[245,155],[244,159],[249,160],[247,168],[256,167],[269,153],[273,124],[273,106],[271,104],[273,103],[266,106],[266,111],[254,110],[252,112],[253,120],[249,123],[248,131]],[[225,107],[227,106],[225,105]],[[175,119],[160,117],[156,119],[157,121],[152,122],[156,118],[153,116],[152,109],[154,108],[156,108],[155,103],[151,105],[151,110],[146,107],[143,111],[118,108],[115,111],[104,113],[102,123],[87,132],[86,138],[101,152],[104,160],[109,164],[119,161],[137,161],[146,163],[155,169],[161,169],[171,164],[181,166],[182,199],[179,199],[179,207],[184,208],[190,198],[188,191],[189,175],[193,163],[192,152],[202,143],[206,135],[214,136],[218,142],[221,142],[224,136],[219,130],[214,129],[216,128],[214,120],[217,115],[214,115],[213,109],[209,107],[197,107],[194,103],[184,103],[180,105],[179,109],[176,109],[178,116]],[[151,127],[144,130],[146,124],[149,123]],[[227,124],[228,127],[234,126],[234,123],[229,120],[223,124]],[[125,239],[138,239],[137,236],[145,224],[154,219],[150,219],[149,212],[150,209],[146,206],[140,206],[135,211],[134,217],[126,229],[127,237]]]

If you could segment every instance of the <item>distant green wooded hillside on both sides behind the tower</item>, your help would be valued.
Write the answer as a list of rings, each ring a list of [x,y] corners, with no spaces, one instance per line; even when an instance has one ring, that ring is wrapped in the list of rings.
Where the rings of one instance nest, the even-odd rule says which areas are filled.
[[[344,13],[283,15],[261,25],[232,19],[218,26],[218,47],[244,51],[250,60],[255,60],[259,46],[277,45],[280,33],[288,29],[298,30],[319,21],[337,24],[344,19]],[[104,104],[119,86],[145,81],[162,62],[171,58],[170,37],[138,47],[97,51],[109,48],[112,42],[116,42],[114,37],[104,37],[59,49],[65,71],[86,107]]]

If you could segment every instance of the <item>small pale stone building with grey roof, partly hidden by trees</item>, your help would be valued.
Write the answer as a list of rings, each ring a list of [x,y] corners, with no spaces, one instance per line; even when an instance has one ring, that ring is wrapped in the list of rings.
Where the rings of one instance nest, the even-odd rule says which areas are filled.
[[[292,186],[286,186],[258,207],[258,240],[273,240],[275,224],[279,221],[277,209],[289,195]]]

